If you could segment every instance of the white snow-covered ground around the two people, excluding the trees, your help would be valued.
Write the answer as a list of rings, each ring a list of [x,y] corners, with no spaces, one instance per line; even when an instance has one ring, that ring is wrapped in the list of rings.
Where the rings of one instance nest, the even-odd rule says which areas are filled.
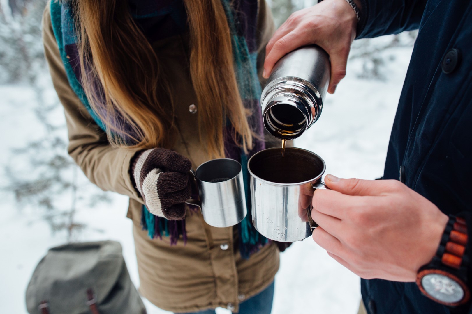
[[[326,173],[337,177],[380,177],[411,50],[388,50],[393,57],[388,58],[383,69],[385,81],[357,78],[362,64],[353,60],[336,94],[326,97],[320,120],[296,140],[295,146],[323,157]],[[32,102],[31,90],[0,86],[0,171],[7,162],[15,161],[11,148],[38,137],[41,131],[34,122]],[[4,184],[1,175],[0,186]],[[65,242],[66,236],[64,232],[51,233],[49,225],[34,210],[22,210],[12,195],[0,193],[0,310],[26,314],[24,294],[34,267],[48,248]],[[127,200],[115,194],[111,197],[110,204],[78,210],[76,221],[89,227],[76,240],[119,241],[138,286],[131,221],[125,217]],[[355,314],[360,298],[359,277],[329,258],[311,238],[294,243],[281,254],[273,314]],[[149,302],[146,306],[150,314],[168,313]],[[218,313],[229,311],[218,309]]]

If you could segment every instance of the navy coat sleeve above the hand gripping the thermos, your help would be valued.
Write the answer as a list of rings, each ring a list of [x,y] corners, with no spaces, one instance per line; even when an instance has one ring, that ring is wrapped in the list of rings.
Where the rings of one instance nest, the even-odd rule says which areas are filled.
[[[418,29],[428,0],[363,0],[359,38],[372,38]]]

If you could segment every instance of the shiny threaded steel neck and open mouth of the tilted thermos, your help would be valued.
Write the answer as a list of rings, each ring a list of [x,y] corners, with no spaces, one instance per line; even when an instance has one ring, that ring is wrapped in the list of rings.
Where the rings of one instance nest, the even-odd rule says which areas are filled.
[[[271,81],[262,91],[264,126],[274,137],[295,139],[318,120],[322,100],[319,91],[298,77]]]

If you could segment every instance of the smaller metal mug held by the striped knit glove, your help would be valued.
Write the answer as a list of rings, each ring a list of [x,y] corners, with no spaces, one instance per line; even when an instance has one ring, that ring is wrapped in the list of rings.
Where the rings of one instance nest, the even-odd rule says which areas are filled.
[[[200,207],[203,219],[214,227],[230,227],[247,215],[241,164],[233,159],[220,158],[202,163],[190,171],[199,199],[187,204]]]

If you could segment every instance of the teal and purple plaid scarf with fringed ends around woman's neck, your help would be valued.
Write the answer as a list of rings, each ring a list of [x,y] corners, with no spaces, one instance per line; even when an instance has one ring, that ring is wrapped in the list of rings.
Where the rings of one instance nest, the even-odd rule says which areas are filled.
[[[257,76],[256,31],[257,31],[257,0],[221,0],[231,31],[231,42],[236,69],[238,89],[246,108],[253,113],[248,121],[256,134],[263,138],[263,124],[259,99],[261,85]],[[188,28],[184,3],[177,0],[129,0],[130,12],[136,24],[143,30],[150,41],[156,41],[186,32]],[[51,1],[51,21],[59,52],[66,68],[71,88],[81,100],[87,111],[98,126],[106,131],[106,125],[99,115],[91,108],[84,89],[80,83],[80,60],[77,48],[77,32],[74,11],[70,1]],[[106,114],[105,109],[101,114]],[[126,123],[117,119],[119,125]],[[227,158],[239,161],[243,167],[244,188],[246,192],[248,215],[238,224],[239,250],[243,258],[259,250],[268,242],[258,233],[252,224],[251,195],[247,161],[256,152],[265,148],[263,141],[254,138],[254,147],[249,154],[233,140],[234,129],[227,126],[225,138],[225,154]],[[186,241],[185,220],[172,221],[152,215],[144,206],[142,210],[142,226],[151,238],[169,236],[171,244],[177,243],[180,235]]]

